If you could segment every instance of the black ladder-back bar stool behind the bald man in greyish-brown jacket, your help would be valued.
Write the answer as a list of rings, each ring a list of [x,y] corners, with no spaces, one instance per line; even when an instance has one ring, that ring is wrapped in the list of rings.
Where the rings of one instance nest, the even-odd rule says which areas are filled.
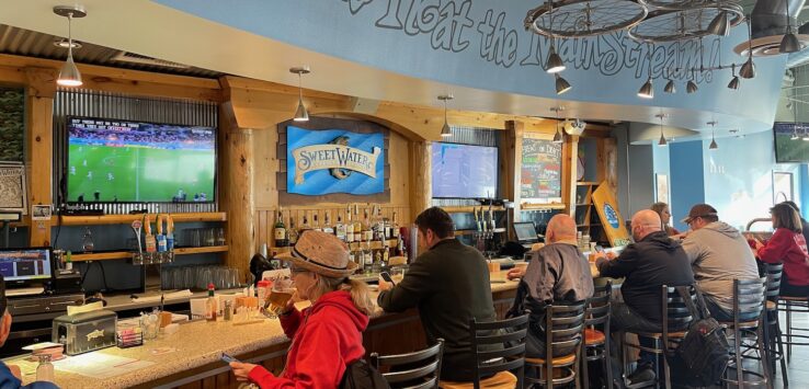
[[[527,381],[554,388],[578,378],[585,307],[580,302],[545,308],[545,358],[525,358],[526,368],[539,371],[539,378],[527,377]]]

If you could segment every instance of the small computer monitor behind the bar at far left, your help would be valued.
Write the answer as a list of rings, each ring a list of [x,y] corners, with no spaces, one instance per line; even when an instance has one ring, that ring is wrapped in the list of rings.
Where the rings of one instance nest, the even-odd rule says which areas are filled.
[[[9,285],[24,285],[50,278],[50,249],[0,249],[0,274]]]

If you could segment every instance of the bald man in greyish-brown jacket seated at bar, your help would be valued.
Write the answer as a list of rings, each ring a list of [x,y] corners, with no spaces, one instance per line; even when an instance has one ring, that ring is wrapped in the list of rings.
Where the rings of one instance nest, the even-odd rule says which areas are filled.
[[[590,263],[579,252],[576,241],[576,221],[567,215],[556,215],[545,232],[548,244],[533,251],[527,268],[512,268],[506,277],[521,278],[514,305],[509,316],[531,310],[525,355],[545,357],[545,310],[549,305],[566,305],[593,297],[593,275]],[[572,354],[576,350],[557,350],[555,357]]]

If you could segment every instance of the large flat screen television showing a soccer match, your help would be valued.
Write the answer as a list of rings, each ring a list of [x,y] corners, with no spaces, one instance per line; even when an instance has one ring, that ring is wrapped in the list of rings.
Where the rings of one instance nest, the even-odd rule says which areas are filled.
[[[216,129],[68,117],[67,203],[210,203]]]

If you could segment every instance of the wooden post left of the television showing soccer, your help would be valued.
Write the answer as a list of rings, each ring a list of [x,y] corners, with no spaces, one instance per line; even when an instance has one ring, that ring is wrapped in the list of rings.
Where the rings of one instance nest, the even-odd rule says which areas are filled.
[[[52,69],[26,68],[25,114],[26,130],[26,179],[29,213],[31,205],[52,205],[52,173],[54,162],[54,95],[56,72]],[[50,245],[50,222],[33,221],[31,215],[29,245]]]

